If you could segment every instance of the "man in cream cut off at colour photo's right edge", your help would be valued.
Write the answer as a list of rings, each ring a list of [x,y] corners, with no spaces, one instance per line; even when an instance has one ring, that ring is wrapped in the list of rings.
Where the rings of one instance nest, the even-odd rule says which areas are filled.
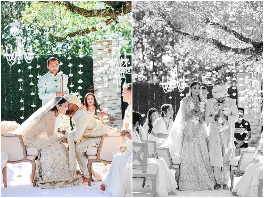
[[[123,101],[128,103],[128,107],[125,111],[123,129],[128,129],[128,125],[130,123],[131,115],[132,115],[132,84],[123,84],[123,93],[122,93]]]

